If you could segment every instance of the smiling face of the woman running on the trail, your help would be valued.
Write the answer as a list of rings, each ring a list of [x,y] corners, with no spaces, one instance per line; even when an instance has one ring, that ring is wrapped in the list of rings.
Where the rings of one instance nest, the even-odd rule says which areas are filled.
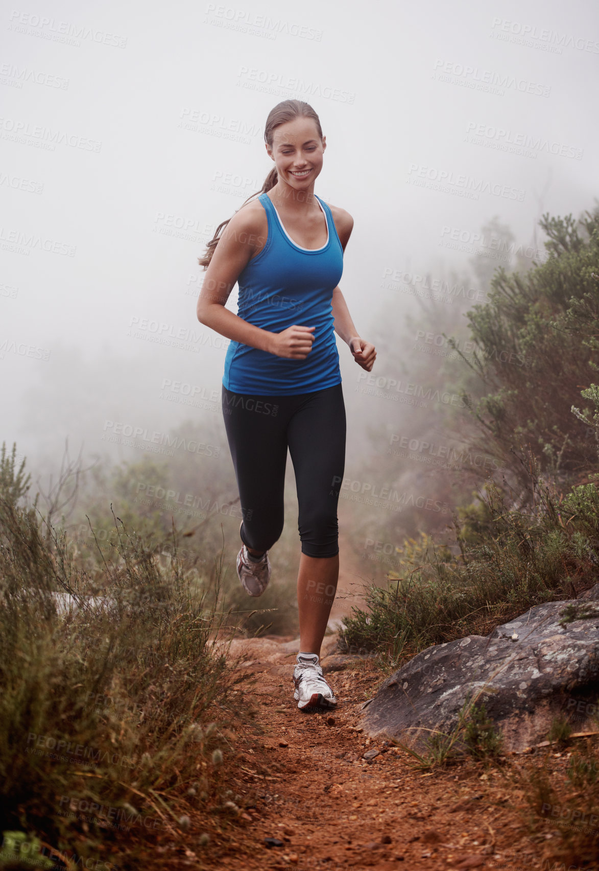
[[[322,169],[322,155],[326,137],[320,136],[313,118],[294,118],[275,127],[273,147],[266,151],[274,160],[279,183],[284,182],[296,191],[313,186]]]

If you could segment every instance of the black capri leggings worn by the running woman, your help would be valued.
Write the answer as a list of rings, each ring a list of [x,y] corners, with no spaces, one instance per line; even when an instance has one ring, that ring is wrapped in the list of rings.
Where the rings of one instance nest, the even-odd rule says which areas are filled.
[[[301,551],[339,553],[337,503],[346,453],[341,385],[298,395],[232,393],[223,384],[222,408],[241,503],[240,536],[252,550],[268,550],[283,531],[287,448],[300,513]]]

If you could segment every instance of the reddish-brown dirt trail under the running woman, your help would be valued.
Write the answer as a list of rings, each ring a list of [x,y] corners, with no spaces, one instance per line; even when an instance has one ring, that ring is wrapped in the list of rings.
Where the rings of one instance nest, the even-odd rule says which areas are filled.
[[[336,636],[325,638],[322,658]],[[205,868],[542,868],[553,835],[529,837],[522,795],[493,768],[468,761],[434,773],[356,731],[381,675],[372,662],[327,672],[339,705],[306,714],[293,701],[298,639],[235,640],[252,674],[252,719],[235,742],[232,787],[241,812],[201,851]],[[376,749],[373,760],[364,753]],[[549,831],[551,831],[549,829]],[[265,839],[280,846],[269,847]]]

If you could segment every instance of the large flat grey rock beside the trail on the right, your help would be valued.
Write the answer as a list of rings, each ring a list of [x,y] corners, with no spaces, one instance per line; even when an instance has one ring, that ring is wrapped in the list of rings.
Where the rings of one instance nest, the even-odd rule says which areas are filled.
[[[573,619],[561,625],[564,612]],[[423,746],[425,730],[448,733],[479,692],[506,750],[546,739],[555,718],[588,728],[599,716],[599,584],[580,598],[536,605],[488,636],[428,647],[380,687],[360,726]]]

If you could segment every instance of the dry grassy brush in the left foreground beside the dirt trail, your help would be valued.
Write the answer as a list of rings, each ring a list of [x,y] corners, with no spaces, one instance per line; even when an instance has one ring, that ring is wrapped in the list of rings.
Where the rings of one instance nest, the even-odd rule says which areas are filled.
[[[6,498],[19,489],[3,476],[3,859],[39,838],[131,867],[123,832],[130,852],[152,832],[177,839],[183,812],[219,800],[235,712],[219,618],[176,550],[165,564],[116,518],[116,557],[90,577],[64,533]]]

